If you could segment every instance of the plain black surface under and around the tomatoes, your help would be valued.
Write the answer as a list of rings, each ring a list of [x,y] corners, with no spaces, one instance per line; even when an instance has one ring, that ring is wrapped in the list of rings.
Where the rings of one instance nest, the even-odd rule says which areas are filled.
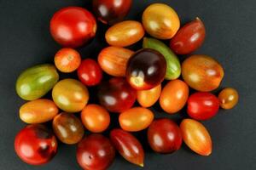
[[[233,87],[239,91],[240,101],[235,109],[220,111],[209,121],[203,122],[212,135],[213,151],[208,157],[195,155],[183,144],[172,155],[160,155],[148,148],[146,133],[138,133],[146,150],[144,169],[197,169],[239,170],[256,169],[256,1],[255,0],[134,0],[130,20],[141,20],[143,9],[153,2],[166,2],[177,10],[182,23],[199,16],[207,28],[207,39],[196,54],[209,54],[224,66],[225,76],[221,87]],[[49,35],[50,17],[59,8],[86,6],[89,0],[0,0],[0,169],[79,169],[75,157],[75,145],[59,144],[58,154],[41,167],[26,165],[15,155],[15,134],[25,123],[18,111],[24,103],[15,94],[15,80],[20,71],[41,63],[52,63],[60,46]],[[88,46],[80,48],[83,58],[96,59],[100,49],[106,46],[103,35],[106,26],[97,31],[97,37]],[[137,43],[134,49],[141,47]],[[67,75],[72,77],[72,75]],[[90,91],[92,94],[94,91]],[[92,95],[91,95],[92,96]],[[94,96],[96,96],[94,94]],[[95,99],[92,97],[91,100]],[[180,115],[168,116],[155,106],[156,116],[171,117],[177,122]],[[162,112],[162,113],[160,113]],[[113,122],[117,116],[113,117]],[[108,132],[106,133],[108,134]],[[143,135],[142,135],[143,134]],[[110,169],[140,169],[117,156]]]

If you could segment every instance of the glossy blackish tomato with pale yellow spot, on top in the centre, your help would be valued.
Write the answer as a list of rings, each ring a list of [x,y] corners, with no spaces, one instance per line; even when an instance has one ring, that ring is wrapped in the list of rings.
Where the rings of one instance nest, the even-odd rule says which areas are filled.
[[[137,90],[154,88],[165,79],[166,59],[154,49],[143,48],[128,60],[127,82]]]

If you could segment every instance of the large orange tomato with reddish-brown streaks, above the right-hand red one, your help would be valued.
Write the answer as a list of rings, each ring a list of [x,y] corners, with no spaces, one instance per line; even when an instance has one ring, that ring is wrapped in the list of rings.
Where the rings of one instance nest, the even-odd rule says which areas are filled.
[[[182,64],[183,79],[189,87],[201,92],[218,88],[224,77],[224,69],[207,55],[192,55]]]

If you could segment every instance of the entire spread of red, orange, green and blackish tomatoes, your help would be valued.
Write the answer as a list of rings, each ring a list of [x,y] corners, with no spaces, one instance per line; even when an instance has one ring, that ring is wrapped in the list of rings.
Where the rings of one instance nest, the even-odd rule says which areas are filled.
[[[211,93],[223,77],[222,65],[210,56],[194,54],[183,63],[177,54],[191,54],[201,47],[206,30],[196,18],[180,27],[177,13],[163,3],[153,3],[143,11],[143,22],[122,21],[131,8],[131,0],[93,0],[94,14],[110,25],[105,34],[109,47],[95,59],[81,59],[79,48],[95,37],[96,19],[85,8],[67,7],[50,20],[50,32],[61,48],[55,65],[35,65],[20,74],[16,91],[29,100],[20,107],[20,119],[30,125],[15,137],[15,151],[22,161],[40,165],[55,156],[57,139],[78,144],[77,160],[84,169],[106,169],[115,150],[127,161],[143,167],[143,145],[132,132],[148,129],[148,144],[155,152],[172,153],[184,142],[201,156],[212,152],[212,139],[201,122],[218,113],[219,107],[231,109],[238,102],[234,88],[224,88],[218,97]],[[148,36],[144,37],[145,32]],[[143,39],[142,48],[128,46]],[[169,40],[170,47],[160,40]],[[58,71],[77,71],[79,80],[59,81]],[[109,76],[102,81],[103,72]],[[181,77],[182,76],[182,77]],[[181,77],[181,78],[179,78]],[[165,86],[161,83],[165,81]],[[97,86],[98,94],[88,88]],[[193,88],[193,94],[189,90]],[[51,90],[52,99],[41,99]],[[88,104],[90,95],[98,104]],[[139,105],[134,107],[135,102]],[[178,126],[171,119],[154,119],[148,107],[156,102],[167,114],[175,114],[186,105],[191,118]],[[103,136],[119,114],[119,128]],[[79,118],[79,117],[80,118]],[[44,122],[52,121],[52,133]],[[84,137],[84,129],[92,134]]]

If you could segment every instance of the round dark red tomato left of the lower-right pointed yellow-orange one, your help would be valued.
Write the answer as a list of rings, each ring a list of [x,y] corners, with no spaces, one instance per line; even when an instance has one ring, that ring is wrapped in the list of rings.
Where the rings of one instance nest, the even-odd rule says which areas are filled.
[[[159,153],[172,153],[183,143],[182,133],[176,122],[162,118],[154,120],[148,127],[148,143]]]

